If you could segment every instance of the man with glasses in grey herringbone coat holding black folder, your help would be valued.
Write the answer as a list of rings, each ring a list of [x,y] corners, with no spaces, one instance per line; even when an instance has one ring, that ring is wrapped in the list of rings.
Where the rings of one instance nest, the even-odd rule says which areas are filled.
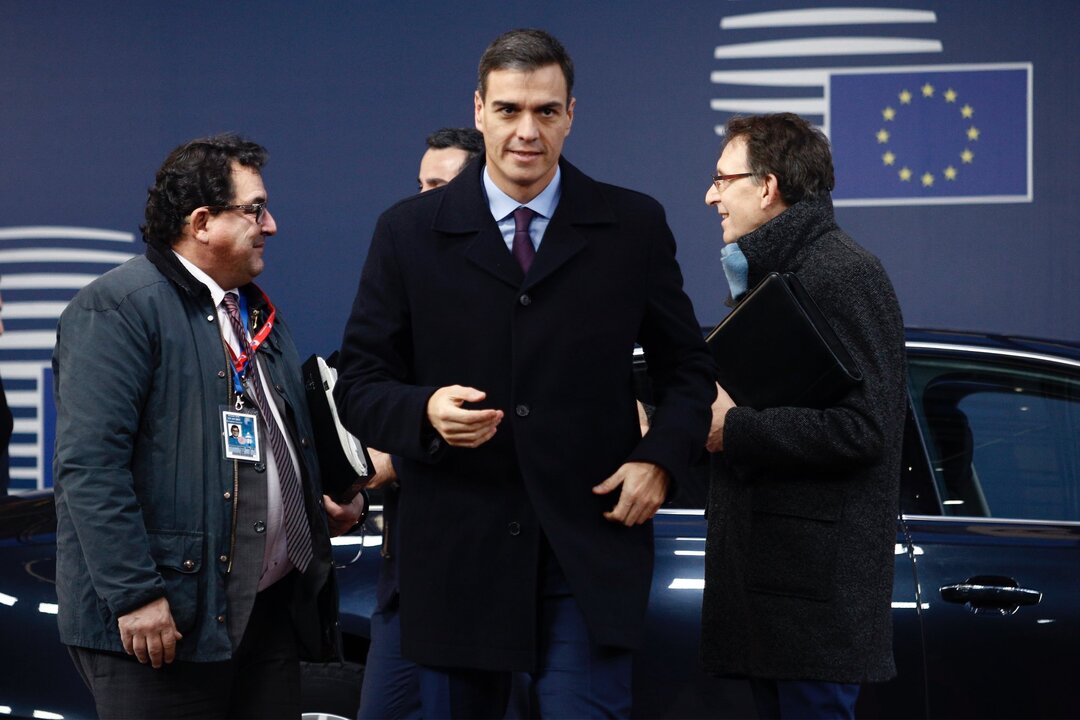
[[[728,122],[705,194],[733,301],[794,273],[863,375],[826,407],[737,407],[717,385],[702,656],[750,678],[760,718],[851,718],[860,683],[896,674],[904,326],[881,263],[837,226],[833,185],[828,140],[782,113]]]

